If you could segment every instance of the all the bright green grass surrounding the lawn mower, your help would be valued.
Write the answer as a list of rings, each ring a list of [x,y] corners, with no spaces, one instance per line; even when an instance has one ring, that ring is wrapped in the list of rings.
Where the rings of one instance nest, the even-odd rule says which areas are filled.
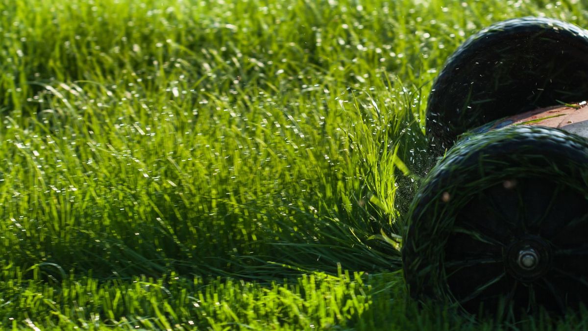
[[[2,328],[586,328],[421,310],[397,250],[447,56],[570,2],[2,1]]]

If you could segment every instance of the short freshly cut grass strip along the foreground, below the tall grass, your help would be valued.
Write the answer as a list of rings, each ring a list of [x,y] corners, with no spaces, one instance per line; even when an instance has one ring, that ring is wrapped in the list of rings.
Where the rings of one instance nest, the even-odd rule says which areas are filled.
[[[71,277],[61,283],[24,279],[0,282],[4,329],[173,330],[582,330],[586,317],[549,316],[509,322],[475,321],[404,299],[400,272],[304,274],[259,284],[237,279],[204,280],[169,274],[129,281]],[[4,274],[6,277],[6,273]],[[582,311],[582,316],[586,312]]]

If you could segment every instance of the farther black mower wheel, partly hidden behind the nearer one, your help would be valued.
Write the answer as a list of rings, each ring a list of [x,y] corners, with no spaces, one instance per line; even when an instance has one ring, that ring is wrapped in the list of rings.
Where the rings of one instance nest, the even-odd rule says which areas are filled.
[[[516,18],[473,35],[451,55],[429,95],[433,153],[482,124],[588,98],[588,31],[556,19]]]

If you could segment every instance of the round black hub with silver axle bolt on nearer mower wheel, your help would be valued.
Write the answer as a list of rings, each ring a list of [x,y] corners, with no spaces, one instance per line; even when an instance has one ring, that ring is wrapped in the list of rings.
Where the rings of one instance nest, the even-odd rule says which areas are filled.
[[[552,265],[552,249],[537,236],[513,241],[505,254],[508,272],[522,282],[533,282],[544,276]]]

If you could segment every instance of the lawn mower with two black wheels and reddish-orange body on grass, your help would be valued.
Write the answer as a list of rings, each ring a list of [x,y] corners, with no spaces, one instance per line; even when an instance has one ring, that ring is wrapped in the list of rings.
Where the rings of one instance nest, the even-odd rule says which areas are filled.
[[[588,31],[548,18],[483,29],[433,83],[439,161],[407,217],[410,296],[474,315],[588,303]]]

